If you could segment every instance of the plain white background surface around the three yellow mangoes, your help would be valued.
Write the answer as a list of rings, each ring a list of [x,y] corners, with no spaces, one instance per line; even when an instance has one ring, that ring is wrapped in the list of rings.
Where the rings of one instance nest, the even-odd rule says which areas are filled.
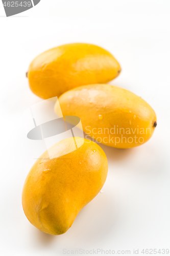
[[[41,0],[7,18],[0,3],[2,256],[170,249],[169,11],[169,0]],[[29,223],[21,206],[23,182],[35,161],[22,113],[41,100],[30,91],[26,72],[39,53],[69,42],[110,51],[122,66],[110,83],[145,99],[158,125],[151,140],[137,148],[102,145],[109,162],[104,193],[82,209],[65,234],[50,236]]]

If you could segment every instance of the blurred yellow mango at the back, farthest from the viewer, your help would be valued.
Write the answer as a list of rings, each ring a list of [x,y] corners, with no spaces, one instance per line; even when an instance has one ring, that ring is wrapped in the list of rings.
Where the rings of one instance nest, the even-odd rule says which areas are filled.
[[[27,77],[32,92],[48,99],[85,84],[106,83],[120,71],[119,63],[108,51],[77,43],[62,45],[37,56]]]

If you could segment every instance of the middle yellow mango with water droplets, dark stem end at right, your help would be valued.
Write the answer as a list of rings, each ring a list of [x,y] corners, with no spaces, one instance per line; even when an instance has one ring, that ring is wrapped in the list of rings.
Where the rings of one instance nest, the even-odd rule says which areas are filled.
[[[129,148],[147,142],[157,124],[156,114],[147,102],[109,84],[75,88],[58,100],[63,116],[80,117],[83,131],[88,134],[85,138],[90,136],[112,147]],[[58,115],[59,104],[55,105]]]

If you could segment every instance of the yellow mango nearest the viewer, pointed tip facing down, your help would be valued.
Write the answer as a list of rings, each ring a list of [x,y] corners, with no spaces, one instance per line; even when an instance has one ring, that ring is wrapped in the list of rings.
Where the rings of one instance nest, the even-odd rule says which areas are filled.
[[[103,187],[108,163],[102,148],[82,138],[67,138],[51,147],[32,166],[22,190],[22,207],[28,220],[48,234],[63,234],[79,211]],[[58,157],[60,156],[60,157]]]

